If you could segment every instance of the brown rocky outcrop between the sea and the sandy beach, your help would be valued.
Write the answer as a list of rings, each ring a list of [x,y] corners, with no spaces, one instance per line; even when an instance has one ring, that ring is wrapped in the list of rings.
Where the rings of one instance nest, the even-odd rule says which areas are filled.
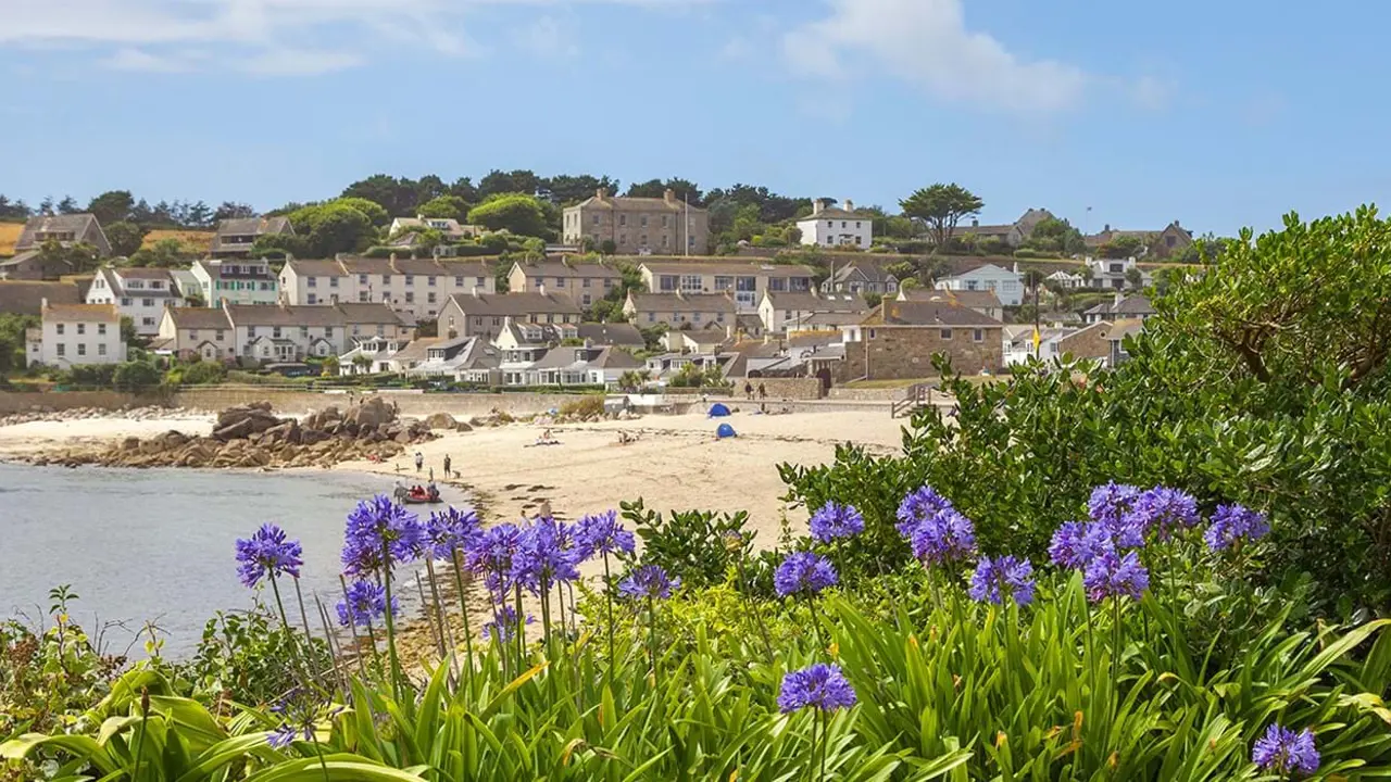
[[[339,462],[389,459],[435,436],[420,420],[403,420],[381,399],[346,413],[327,408],[303,420],[281,419],[268,402],[218,413],[210,437],[166,431],[118,444],[74,448],[32,459],[36,465],[111,468],[327,468]]]

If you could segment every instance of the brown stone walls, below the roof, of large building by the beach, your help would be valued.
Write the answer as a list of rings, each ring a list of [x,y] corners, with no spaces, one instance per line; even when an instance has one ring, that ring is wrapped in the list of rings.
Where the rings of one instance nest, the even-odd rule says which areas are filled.
[[[943,340],[940,328],[921,326],[875,326],[861,328],[861,342],[846,344],[846,360],[839,381],[910,380],[933,377],[932,356],[947,353],[951,367],[961,374],[979,374],[982,369],[999,372],[1004,365],[1000,328],[982,328],[983,338],[972,338],[974,327],[953,328]]]

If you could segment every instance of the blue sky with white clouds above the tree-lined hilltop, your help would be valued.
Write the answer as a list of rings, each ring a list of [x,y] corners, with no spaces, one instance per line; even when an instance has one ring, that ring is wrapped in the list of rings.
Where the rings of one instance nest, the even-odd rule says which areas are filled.
[[[0,0],[0,192],[271,209],[531,168],[893,206],[957,181],[992,223],[1230,234],[1391,186],[1387,22],[1345,0]]]

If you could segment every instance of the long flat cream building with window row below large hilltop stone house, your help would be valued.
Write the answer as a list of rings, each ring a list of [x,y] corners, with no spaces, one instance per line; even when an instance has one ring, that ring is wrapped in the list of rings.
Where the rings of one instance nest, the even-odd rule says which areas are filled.
[[[740,313],[757,314],[764,291],[811,291],[815,273],[807,266],[725,262],[648,262],[637,267],[651,294],[729,292]]]

